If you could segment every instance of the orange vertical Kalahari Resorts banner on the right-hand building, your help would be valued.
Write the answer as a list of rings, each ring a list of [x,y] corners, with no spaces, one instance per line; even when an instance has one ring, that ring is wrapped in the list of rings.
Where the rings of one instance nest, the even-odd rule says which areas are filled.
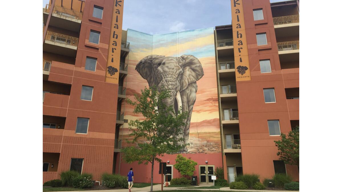
[[[246,39],[244,9],[242,0],[231,0],[233,45],[236,81],[250,81],[251,71]]]

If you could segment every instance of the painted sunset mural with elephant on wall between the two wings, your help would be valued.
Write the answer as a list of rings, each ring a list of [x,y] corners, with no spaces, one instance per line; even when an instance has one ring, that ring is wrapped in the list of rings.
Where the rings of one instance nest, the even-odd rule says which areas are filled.
[[[126,97],[134,99],[142,89],[156,86],[168,89],[172,97],[165,100],[182,106],[189,112],[184,127],[186,143],[183,153],[214,153],[221,151],[220,122],[217,96],[214,29],[199,29],[163,35],[148,35],[127,30],[130,42]],[[124,119],[143,117],[133,114],[133,107],[125,104]],[[130,139],[128,124],[123,125],[123,146]]]

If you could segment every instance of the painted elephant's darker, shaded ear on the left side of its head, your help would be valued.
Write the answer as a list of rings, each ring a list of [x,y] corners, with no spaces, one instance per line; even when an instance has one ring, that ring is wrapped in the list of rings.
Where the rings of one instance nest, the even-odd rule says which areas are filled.
[[[155,59],[159,59],[165,57],[164,55],[149,55],[145,58],[141,59],[139,63],[136,65],[135,70],[141,75],[142,78],[146,79],[148,82],[148,86],[157,86],[158,80],[156,77],[156,72],[153,68],[152,61]]]

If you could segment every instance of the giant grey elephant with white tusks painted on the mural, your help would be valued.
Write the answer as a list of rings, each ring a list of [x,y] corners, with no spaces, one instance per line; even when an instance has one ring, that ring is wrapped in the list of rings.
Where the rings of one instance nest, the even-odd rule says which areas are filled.
[[[164,99],[167,106],[173,105],[177,111],[188,111],[188,119],[184,127],[184,143],[189,140],[189,127],[192,110],[196,101],[197,83],[204,75],[202,64],[193,55],[165,57],[149,55],[139,61],[135,70],[146,79],[150,87],[156,86],[170,91],[172,97]],[[187,148],[181,152],[187,152]]]

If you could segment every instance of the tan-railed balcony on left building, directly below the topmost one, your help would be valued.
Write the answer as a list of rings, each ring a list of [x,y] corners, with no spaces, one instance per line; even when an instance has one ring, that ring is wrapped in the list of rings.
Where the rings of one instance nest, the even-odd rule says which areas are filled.
[[[43,44],[43,51],[76,57],[78,38],[48,31]]]

